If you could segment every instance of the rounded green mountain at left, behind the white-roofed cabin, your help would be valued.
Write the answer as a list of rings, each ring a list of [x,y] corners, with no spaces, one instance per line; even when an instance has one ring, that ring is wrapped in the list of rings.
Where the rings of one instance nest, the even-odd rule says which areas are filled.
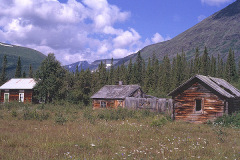
[[[7,55],[8,78],[14,77],[19,56],[22,63],[22,73],[25,71],[27,75],[30,64],[32,64],[33,71],[35,72],[40,66],[41,62],[46,58],[44,54],[34,49],[0,42],[0,72],[2,69],[4,55]]]

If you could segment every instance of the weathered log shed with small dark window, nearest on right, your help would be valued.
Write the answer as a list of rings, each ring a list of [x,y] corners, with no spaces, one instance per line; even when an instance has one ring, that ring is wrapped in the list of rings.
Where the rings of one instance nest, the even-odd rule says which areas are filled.
[[[168,95],[176,120],[202,123],[240,110],[239,90],[220,78],[195,75]]]

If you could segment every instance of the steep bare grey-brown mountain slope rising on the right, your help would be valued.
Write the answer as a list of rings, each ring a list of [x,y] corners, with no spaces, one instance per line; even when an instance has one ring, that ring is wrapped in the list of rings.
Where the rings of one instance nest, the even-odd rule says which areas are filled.
[[[236,60],[240,59],[240,0],[209,16],[173,39],[146,46],[140,52],[145,62],[148,57],[152,57],[153,53],[161,61],[165,55],[168,54],[172,59],[182,50],[186,53],[186,57],[191,59],[194,57],[197,47],[200,53],[203,53],[205,46],[210,55],[213,54],[217,57],[220,54],[224,60],[231,48],[235,52]],[[124,61],[129,62],[130,58],[133,58],[134,61],[136,53],[125,57]],[[118,65],[121,64],[120,62]]]

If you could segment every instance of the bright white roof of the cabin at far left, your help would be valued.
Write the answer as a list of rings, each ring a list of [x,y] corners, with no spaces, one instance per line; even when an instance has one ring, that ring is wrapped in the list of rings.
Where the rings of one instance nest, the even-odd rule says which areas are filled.
[[[36,81],[33,78],[12,78],[4,83],[0,89],[33,89]]]

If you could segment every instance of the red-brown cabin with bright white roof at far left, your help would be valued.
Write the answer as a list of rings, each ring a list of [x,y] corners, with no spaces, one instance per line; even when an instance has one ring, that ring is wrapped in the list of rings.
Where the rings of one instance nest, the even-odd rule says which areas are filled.
[[[0,103],[35,102],[33,88],[36,81],[33,78],[12,78],[0,87]]]

